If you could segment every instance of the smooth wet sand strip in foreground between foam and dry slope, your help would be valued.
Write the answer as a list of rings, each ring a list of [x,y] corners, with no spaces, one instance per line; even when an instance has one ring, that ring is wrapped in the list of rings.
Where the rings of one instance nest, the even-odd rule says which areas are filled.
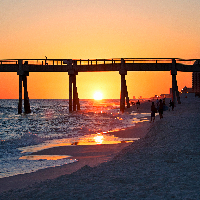
[[[60,167],[41,169],[36,172],[16,175],[0,179],[0,193],[10,189],[23,188],[35,182],[54,179],[64,174],[71,174],[85,165],[94,167],[102,162],[109,161],[121,149],[129,145],[90,145],[90,146],[67,146],[55,147],[38,152],[37,155],[72,155],[77,162]],[[36,154],[35,154],[36,155]]]

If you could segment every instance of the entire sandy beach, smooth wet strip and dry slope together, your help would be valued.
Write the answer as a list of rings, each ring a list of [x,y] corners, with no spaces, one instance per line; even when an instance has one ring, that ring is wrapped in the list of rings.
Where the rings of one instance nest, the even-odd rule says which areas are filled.
[[[163,119],[118,132],[140,134],[132,144],[43,150],[79,161],[2,178],[0,199],[199,199],[199,105],[199,98],[182,98]]]

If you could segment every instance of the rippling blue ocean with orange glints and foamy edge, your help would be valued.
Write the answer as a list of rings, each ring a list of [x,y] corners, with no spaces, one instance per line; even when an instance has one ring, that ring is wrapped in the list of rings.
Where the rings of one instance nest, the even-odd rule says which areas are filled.
[[[119,111],[119,99],[80,100],[69,113],[68,100],[30,100],[31,113],[18,114],[18,100],[0,100],[0,178],[77,162],[66,156],[31,156],[56,146],[131,142],[112,132],[148,121],[150,113]]]

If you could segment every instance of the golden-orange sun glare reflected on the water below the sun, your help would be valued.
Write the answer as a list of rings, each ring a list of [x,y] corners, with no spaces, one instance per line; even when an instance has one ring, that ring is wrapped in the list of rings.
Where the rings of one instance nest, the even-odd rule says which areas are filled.
[[[96,103],[97,104],[97,103]],[[102,106],[105,106],[104,103],[101,103]],[[97,109],[98,108],[98,109]],[[97,112],[97,113],[96,113]],[[32,145],[32,146],[26,146],[19,148],[21,153],[27,153],[27,152],[38,152],[44,149],[49,149],[53,147],[60,147],[60,146],[76,146],[76,145],[101,145],[101,144],[119,144],[119,143],[128,143],[128,142],[134,142],[135,140],[138,140],[139,138],[119,138],[115,136],[115,132],[125,130],[126,128],[133,127],[135,124],[140,122],[149,121],[146,116],[150,116],[150,113],[136,113],[131,112],[129,116],[132,116],[131,118],[127,117],[126,115],[121,115],[118,113],[110,112],[111,115],[113,115],[111,122],[116,125],[117,123],[127,123],[126,128],[118,128],[116,127],[115,130],[111,129],[107,132],[104,131],[103,128],[99,129],[98,127],[102,126],[104,127],[105,120],[107,120],[107,115],[101,110],[100,107],[96,107],[95,104],[93,104],[93,110],[88,110],[88,118],[85,120],[90,120],[92,117],[95,119],[98,119],[95,123],[91,123],[94,127],[92,127],[92,131],[95,131],[96,134],[89,134],[90,128],[88,127],[87,135],[84,136],[78,136],[78,137],[72,137],[72,138],[62,138],[62,139],[53,139],[53,140],[47,140],[43,143],[40,143],[38,145]],[[96,113],[96,114],[94,114]],[[91,117],[92,115],[92,117]],[[106,118],[107,117],[107,118]],[[108,118],[110,120],[110,118]],[[82,127],[81,127],[82,130]],[[108,130],[108,129],[107,129]]]

